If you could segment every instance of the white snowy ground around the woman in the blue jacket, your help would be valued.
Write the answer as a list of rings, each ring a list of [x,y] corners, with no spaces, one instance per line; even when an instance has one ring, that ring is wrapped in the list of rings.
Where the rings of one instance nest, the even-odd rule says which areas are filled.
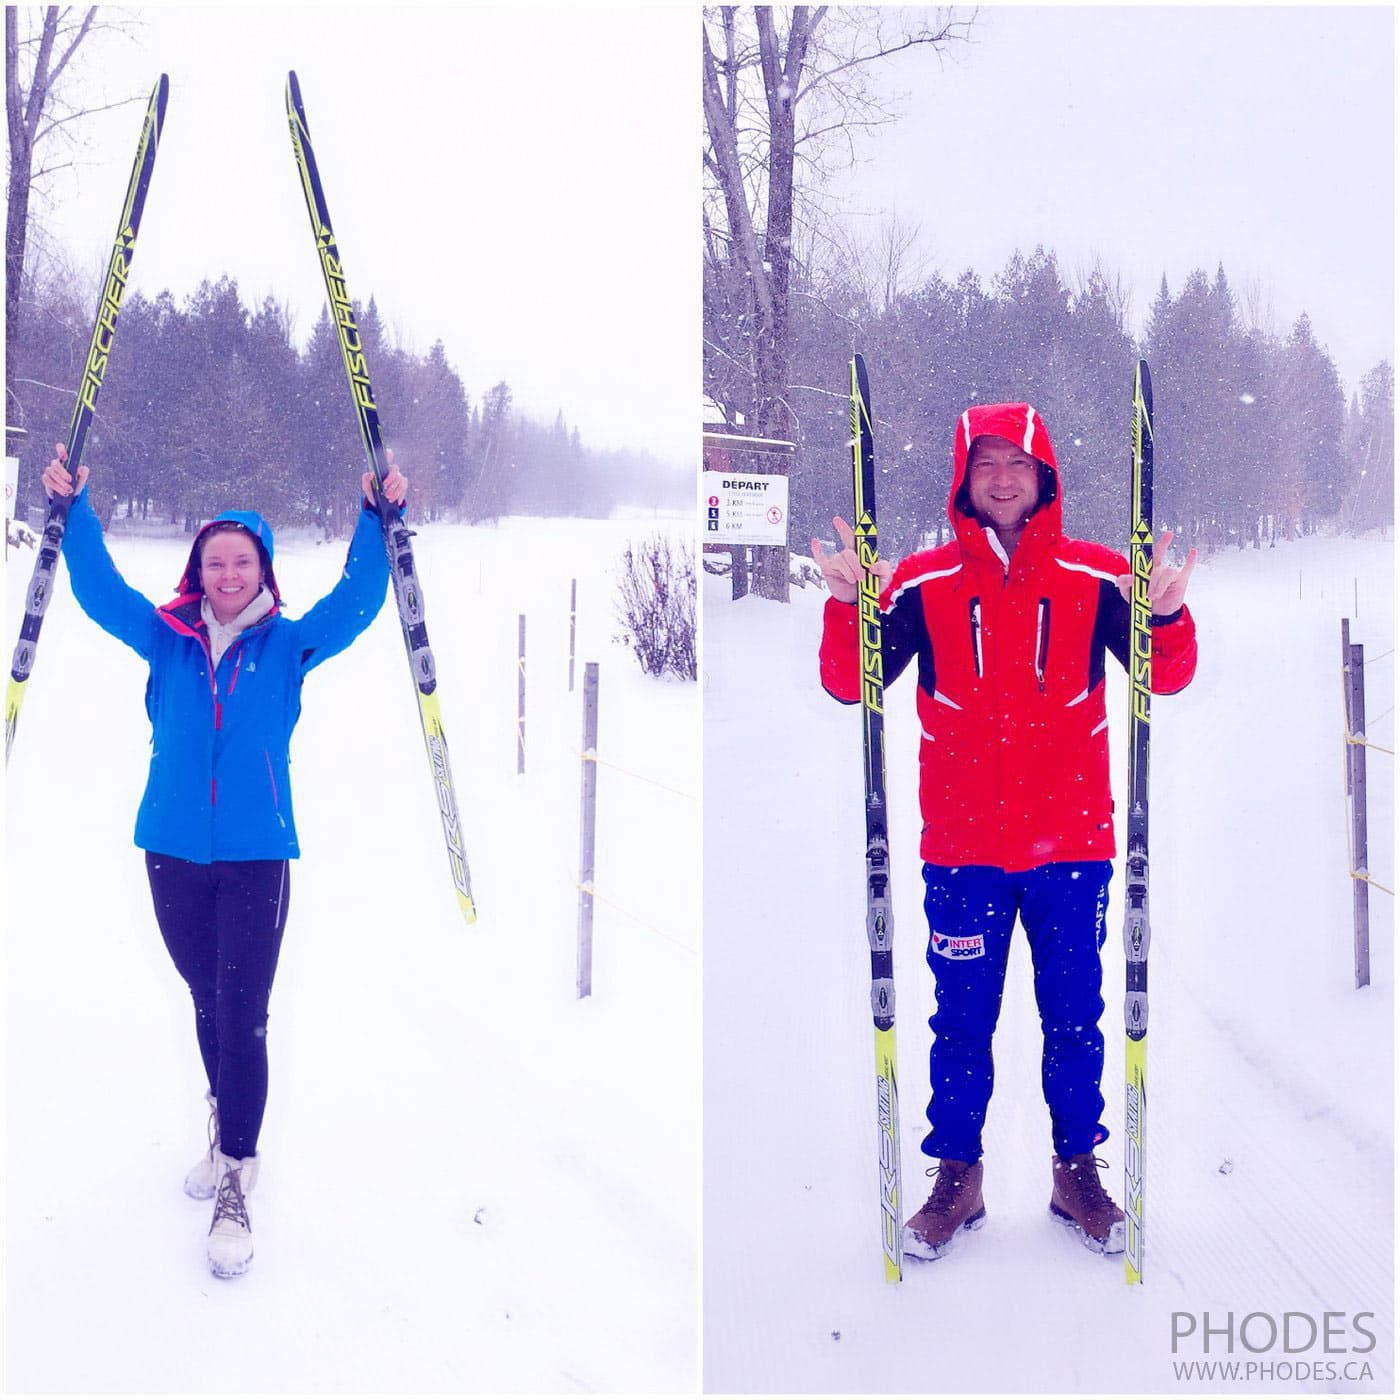
[[[252,1271],[210,1277],[193,1016],[130,832],[144,668],[66,573],[7,771],[10,1392],[693,1390],[699,697],[613,643],[627,536],[427,526],[416,549],[480,910],[442,850],[392,602],[307,683],[302,860]],[[116,536],[164,601],[182,539]],[[343,545],[286,540],[302,612]],[[8,644],[29,550],[8,560]],[[567,689],[568,581],[578,675]],[[528,771],[515,773],[528,613]],[[601,662],[594,995],[574,997],[582,664]],[[658,785],[664,784],[664,785]]]

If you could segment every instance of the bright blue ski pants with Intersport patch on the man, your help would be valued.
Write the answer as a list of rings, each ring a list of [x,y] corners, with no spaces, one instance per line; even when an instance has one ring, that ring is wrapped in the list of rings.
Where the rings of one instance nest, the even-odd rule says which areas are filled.
[[[991,1100],[991,1035],[1001,1011],[1011,935],[1021,916],[1035,967],[1044,1049],[1040,1084],[1054,1149],[1089,1152],[1103,1113],[1103,948],[1109,861],[1060,861],[1007,874],[990,865],[925,865],[928,966],[938,1009],[928,1021],[932,1096],[923,1151],[976,1162]]]

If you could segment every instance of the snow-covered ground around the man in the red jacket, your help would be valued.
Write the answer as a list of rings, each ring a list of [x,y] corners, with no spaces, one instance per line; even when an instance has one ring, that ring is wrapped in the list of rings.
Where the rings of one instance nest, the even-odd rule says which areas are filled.
[[[1046,1211],[1049,1119],[1023,939],[986,1134],[987,1224],[883,1282],[858,711],[822,693],[825,594],[729,602],[706,578],[704,1385],[711,1392],[1372,1392],[1393,1372],[1394,902],[1372,892],[1352,987],[1340,619],[1394,748],[1390,542],[1204,563],[1201,665],[1154,707],[1147,1280]],[[1359,602],[1359,608],[1357,603]],[[1114,774],[1126,687],[1110,666]],[[889,694],[906,1214],[930,1183],[932,976],[917,860],[913,679]],[[1371,868],[1394,889],[1394,759],[1369,755]],[[1121,811],[1123,802],[1119,801]],[[1121,846],[1121,833],[1120,833]],[[1106,945],[1106,1121],[1121,1198],[1121,885]],[[1306,1319],[1345,1315],[1331,1352]],[[1173,1313],[1197,1336],[1172,1350]],[[1217,1333],[1236,1329],[1233,1351]],[[1256,1317],[1240,1333],[1250,1313]],[[1361,1327],[1376,1336],[1366,1347]],[[1336,1324],[1337,1319],[1334,1319]],[[1176,1322],[1184,1333],[1187,1319]],[[1249,1347],[1260,1351],[1246,1350]],[[1254,1362],[1187,1379],[1184,1361]],[[1271,1371],[1264,1368],[1273,1365]],[[1369,1366],[1369,1375],[1361,1368]],[[1287,1366],[1287,1369],[1284,1369]],[[1329,1373],[1327,1366],[1334,1368]],[[1302,1369],[1306,1368],[1306,1369]],[[1350,1368],[1350,1369],[1347,1369]]]

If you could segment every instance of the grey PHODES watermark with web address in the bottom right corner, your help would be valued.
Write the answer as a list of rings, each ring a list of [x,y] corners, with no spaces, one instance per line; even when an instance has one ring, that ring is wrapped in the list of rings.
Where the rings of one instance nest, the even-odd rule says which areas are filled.
[[[1177,1380],[1373,1380],[1373,1312],[1173,1312]]]

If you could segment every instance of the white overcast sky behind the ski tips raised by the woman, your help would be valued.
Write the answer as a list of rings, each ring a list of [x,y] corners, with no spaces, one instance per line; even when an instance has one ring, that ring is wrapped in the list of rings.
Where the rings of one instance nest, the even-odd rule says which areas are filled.
[[[83,266],[105,262],[165,71],[133,286],[183,295],[227,272],[245,301],[290,300],[305,337],[325,288],[284,116],[295,69],[351,295],[375,295],[420,353],[441,337],[473,402],[507,379],[517,405],[561,407],[594,445],[696,456],[694,13],[136,13],[136,41],[109,36],[88,71],[141,105],[94,119],[88,164],[55,185]]]

